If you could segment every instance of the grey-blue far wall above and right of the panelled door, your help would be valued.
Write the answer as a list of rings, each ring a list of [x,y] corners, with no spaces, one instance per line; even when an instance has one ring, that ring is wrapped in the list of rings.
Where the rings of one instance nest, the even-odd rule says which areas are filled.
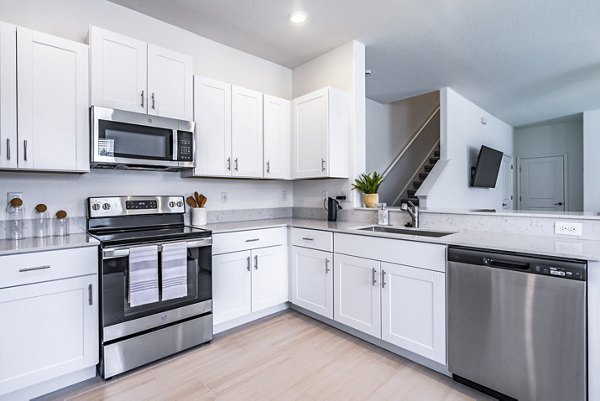
[[[581,118],[516,128],[514,143],[515,166],[518,165],[517,160],[523,157],[567,155],[567,210],[583,211],[583,122]]]

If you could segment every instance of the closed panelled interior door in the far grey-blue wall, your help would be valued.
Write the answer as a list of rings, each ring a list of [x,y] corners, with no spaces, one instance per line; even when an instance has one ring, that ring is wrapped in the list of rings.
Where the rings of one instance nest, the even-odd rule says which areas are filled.
[[[519,209],[564,211],[563,155],[519,159]]]

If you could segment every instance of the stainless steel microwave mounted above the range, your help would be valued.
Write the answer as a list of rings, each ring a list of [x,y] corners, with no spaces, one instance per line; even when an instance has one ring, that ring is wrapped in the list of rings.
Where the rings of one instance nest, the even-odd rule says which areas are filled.
[[[91,166],[182,170],[194,167],[194,122],[92,106]]]

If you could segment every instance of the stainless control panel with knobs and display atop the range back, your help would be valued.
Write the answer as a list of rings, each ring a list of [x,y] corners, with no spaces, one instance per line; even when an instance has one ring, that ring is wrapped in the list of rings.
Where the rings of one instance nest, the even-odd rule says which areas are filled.
[[[183,196],[107,196],[88,198],[90,218],[183,214]]]

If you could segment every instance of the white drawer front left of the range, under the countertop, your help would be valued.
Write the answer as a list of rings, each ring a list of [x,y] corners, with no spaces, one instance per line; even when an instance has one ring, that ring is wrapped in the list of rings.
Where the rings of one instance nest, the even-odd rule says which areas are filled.
[[[0,256],[0,288],[97,273],[97,247]]]

